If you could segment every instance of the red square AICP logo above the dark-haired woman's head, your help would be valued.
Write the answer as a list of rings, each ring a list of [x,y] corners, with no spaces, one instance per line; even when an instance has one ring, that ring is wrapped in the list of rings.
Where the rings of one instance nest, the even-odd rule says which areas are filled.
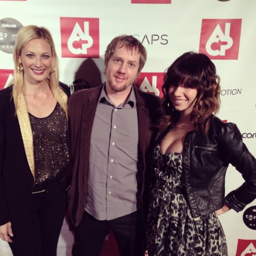
[[[210,59],[237,60],[242,19],[203,19],[199,52]]]

